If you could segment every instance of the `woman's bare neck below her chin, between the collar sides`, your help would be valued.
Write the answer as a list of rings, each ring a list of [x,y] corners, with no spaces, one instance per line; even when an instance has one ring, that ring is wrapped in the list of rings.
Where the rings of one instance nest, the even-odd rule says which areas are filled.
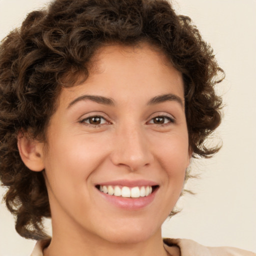
[[[52,223],[52,239],[44,256],[166,256],[168,252],[163,247],[161,229],[147,239],[138,242],[108,241],[88,231],[77,231],[68,225],[54,225]]]

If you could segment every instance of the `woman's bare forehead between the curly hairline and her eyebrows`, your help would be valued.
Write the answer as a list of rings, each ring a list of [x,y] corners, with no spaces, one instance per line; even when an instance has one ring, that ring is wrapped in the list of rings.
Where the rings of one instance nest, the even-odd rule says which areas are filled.
[[[62,89],[62,101],[73,100],[81,93],[147,100],[171,92],[183,98],[181,73],[161,51],[145,43],[103,46],[91,58],[88,71],[83,83]]]

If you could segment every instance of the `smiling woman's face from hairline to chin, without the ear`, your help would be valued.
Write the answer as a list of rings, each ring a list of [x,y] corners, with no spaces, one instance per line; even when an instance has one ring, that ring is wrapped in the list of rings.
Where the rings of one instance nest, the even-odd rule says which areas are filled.
[[[101,48],[88,79],[62,89],[42,157],[53,236],[159,235],[190,160],[181,74],[146,44]]]

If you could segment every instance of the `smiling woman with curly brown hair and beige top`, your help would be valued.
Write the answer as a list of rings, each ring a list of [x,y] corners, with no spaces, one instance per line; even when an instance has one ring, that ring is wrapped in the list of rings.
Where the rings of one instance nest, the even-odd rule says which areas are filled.
[[[0,59],[0,175],[32,255],[253,255],[161,239],[190,158],[218,150],[204,140],[222,69],[189,18],[165,1],[57,0]]]

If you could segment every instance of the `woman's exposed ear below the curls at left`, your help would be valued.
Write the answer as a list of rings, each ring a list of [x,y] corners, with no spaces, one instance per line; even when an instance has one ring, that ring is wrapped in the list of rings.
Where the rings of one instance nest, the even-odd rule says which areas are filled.
[[[31,139],[26,134],[19,132],[17,146],[19,155],[27,168],[33,171],[44,169],[42,142]]]

